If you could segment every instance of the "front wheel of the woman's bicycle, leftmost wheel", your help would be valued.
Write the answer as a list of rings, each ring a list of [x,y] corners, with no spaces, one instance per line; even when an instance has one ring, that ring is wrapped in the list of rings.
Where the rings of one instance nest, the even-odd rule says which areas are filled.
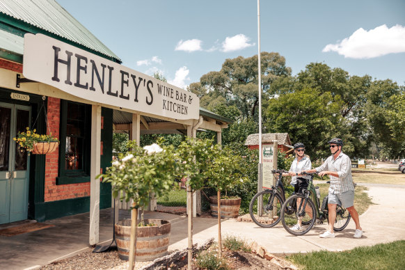
[[[262,211],[258,211],[257,202],[261,202]],[[280,222],[280,210],[283,199],[278,193],[265,190],[253,196],[249,205],[249,212],[254,223],[263,228],[271,228]]]

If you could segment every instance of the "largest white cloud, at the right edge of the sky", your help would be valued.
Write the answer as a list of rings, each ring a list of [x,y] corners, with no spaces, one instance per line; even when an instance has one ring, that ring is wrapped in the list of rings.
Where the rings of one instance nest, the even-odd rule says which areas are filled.
[[[345,58],[358,59],[405,52],[405,26],[397,24],[388,29],[383,24],[370,31],[360,28],[342,42],[326,45],[322,51],[337,51]]]

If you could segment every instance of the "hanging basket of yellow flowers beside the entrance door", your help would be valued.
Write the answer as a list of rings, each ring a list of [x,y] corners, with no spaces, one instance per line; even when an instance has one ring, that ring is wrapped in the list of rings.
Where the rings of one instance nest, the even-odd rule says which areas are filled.
[[[52,134],[37,134],[36,129],[26,127],[25,132],[18,132],[13,138],[20,150],[26,150],[29,154],[49,154],[58,147],[58,138]]]

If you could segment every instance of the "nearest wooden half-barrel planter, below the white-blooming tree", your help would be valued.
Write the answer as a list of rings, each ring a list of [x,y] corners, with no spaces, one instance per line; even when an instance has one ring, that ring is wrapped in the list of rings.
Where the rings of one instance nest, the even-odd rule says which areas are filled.
[[[170,238],[170,221],[145,219],[145,224],[156,224],[136,228],[136,262],[148,262],[167,255]],[[118,257],[129,260],[131,220],[118,221],[114,226]]]

